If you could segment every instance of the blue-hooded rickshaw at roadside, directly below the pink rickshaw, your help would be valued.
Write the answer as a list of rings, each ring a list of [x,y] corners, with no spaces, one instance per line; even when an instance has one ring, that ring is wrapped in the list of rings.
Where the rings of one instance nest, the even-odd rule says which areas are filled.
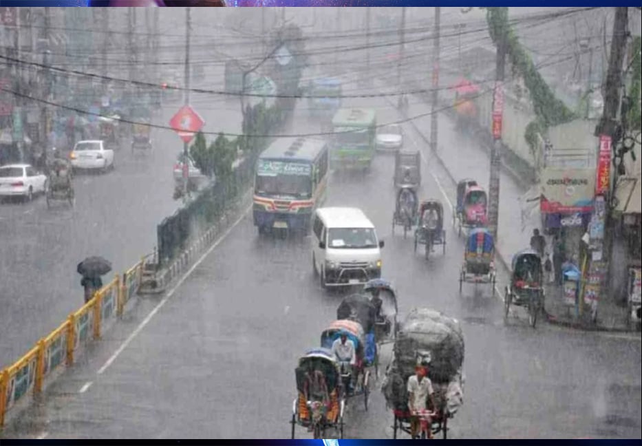
[[[469,235],[464,249],[464,263],[459,274],[459,292],[462,284],[491,284],[495,293],[495,241],[488,229],[475,228]]]

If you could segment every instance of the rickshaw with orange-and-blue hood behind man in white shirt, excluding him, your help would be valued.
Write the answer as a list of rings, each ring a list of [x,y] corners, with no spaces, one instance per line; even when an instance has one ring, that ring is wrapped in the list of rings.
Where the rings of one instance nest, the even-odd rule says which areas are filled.
[[[332,345],[337,339],[345,334],[354,344],[356,353],[356,363],[354,370],[356,376],[353,376],[352,367],[345,363],[339,362],[341,371],[342,387],[345,390],[345,398],[363,395],[365,410],[368,410],[368,399],[370,398],[370,368],[374,367],[377,362],[376,343],[374,334],[369,333],[366,336],[363,326],[357,321],[350,319],[339,319],[330,324],[328,328],[321,333],[321,347],[332,350]]]

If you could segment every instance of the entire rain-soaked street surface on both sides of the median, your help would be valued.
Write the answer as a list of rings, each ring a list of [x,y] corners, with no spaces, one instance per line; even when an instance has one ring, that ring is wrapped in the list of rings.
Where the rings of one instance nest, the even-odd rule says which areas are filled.
[[[323,66],[325,59],[315,56],[312,66]],[[312,76],[304,74],[306,80]],[[372,87],[363,85],[365,76],[374,79]],[[398,319],[412,308],[429,307],[462,324],[464,404],[449,421],[449,438],[642,436],[639,336],[571,330],[545,321],[533,329],[521,308],[511,310],[505,321],[502,299],[509,275],[502,268],[496,289],[464,284],[459,292],[464,238],[450,224],[455,186],[429,151],[429,117],[416,120],[425,129],[422,136],[394,106],[396,96],[376,95],[392,91],[394,76],[396,67],[387,63],[367,73],[363,67],[342,70],[344,94],[364,96],[343,98],[343,107],[376,109],[378,125],[402,123],[405,148],[422,153],[419,198],[444,203],[445,252],[436,246],[425,259],[422,250],[414,253],[411,234],[404,237],[398,226],[393,233],[396,195],[389,154],[378,154],[367,174],[333,171],[324,205],[359,207],[376,226],[385,242],[382,277],[398,290]],[[237,98],[211,100],[196,93],[191,103],[205,118],[207,131],[240,131]],[[318,134],[307,107],[305,99],[298,100],[291,123],[280,133]],[[429,114],[431,107],[411,97],[409,109],[408,115],[417,116]],[[163,124],[174,111],[173,105],[164,107]],[[478,141],[458,134],[445,114],[438,125],[440,149],[457,150],[462,160],[451,174],[485,185],[488,158]],[[171,167],[182,147],[178,136],[156,132],[158,145],[150,158],[123,149],[115,171],[78,176],[72,211],[48,211],[41,199],[0,205],[0,233],[10,235],[3,243],[11,247],[0,258],[3,294],[19,297],[0,301],[3,363],[80,306],[80,278],[69,272],[76,259],[98,250],[123,270],[156,244],[156,224],[180,205],[171,198]],[[504,182],[502,194],[512,200],[521,191]],[[510,207],[502,202],[500,219],[509,218]],[[3,436],[290,438],[297,360],[319,346],[345,296],[321,288],[312,272],[311,245],[309,235],[259,236],[248,209],[164,294],[138,297],[122,321],[47,387],[43,401],[8,424]],[[43,255],[35,266],[21,260],[32,259],[36,250]],[[32,273],[43,271],[56,277],[54,289],[32,282]],[[47,312],[44,319],[42,312]],[[381,352],[367,410],[363,397],[349,400],[345,438],[392,438],[392,411],[380,390],[391,351],[388,345]],[[296,428],[296,436],[312,438],[303,427]]]

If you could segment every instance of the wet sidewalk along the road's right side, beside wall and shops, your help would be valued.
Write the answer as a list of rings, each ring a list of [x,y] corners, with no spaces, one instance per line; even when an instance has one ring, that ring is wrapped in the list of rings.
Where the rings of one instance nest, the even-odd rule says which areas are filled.
[[[409,105],[409,116],[426,114],[430,111],[430,105],[425,103],[419,96],[411,98]],[[424,116],[411,121],[416,130],[426,140],[429,138],[430,116]],[[453,182],[461,178],[474,178],[482,187],[488,190],[489,181],[489,149],[473,141],[469,136],[458,134],[454,123],[447,114],[442,113],[438,118],[439,143],[438,153],[434,155],[447,169]],[[454,187],[454,184],[450,185]],[[539,229],[539,211],[522,215],[522,200],[528,195],[530,184],[520,182],[514,172],[502,169],[500,180],[500,209],[499,228],[500,237],[497,240],[497,255],[506,270],[511,270],[511,260],[515,253],[528,248],[533,229]],[[548,238],[547,250],[550,250],[551,240]],[[627,324],[626,308],[617,306],[611,299],[604,299],[599,302],[597,310],[597,321],[593,323],[590,318],[590,310],[584,312],[581,319],[575,318],[575,308],[568,309],[562,301],[561,287],[549,286],[546,293],[545,311],[550,323],[556,323],[573,328],[584,330],[603,331],[629,331]]]

